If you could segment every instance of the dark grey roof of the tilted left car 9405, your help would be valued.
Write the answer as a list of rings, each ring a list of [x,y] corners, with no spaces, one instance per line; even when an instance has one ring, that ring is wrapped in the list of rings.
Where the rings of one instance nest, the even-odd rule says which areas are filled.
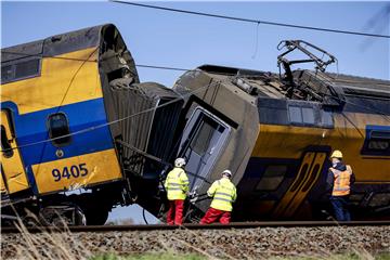
[[[39,70],[38,60],[93,48],[99,53],[96,62],[101,63],[102,60],[105,60],[104,62],[107,64],[105,67],[117,66],[113,63],[115,58],[110,60],[110,57],[121,56],[127,62],[134,82],[139,82],[131,53],[119,30],[113,24],[93,26],[1,49],[1,82],[21,80],[25,77],[17,75],[27,75],[31,73],[30,70]]]

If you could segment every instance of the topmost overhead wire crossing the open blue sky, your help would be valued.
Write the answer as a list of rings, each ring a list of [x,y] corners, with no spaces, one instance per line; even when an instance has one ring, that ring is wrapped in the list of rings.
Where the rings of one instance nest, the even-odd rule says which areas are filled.
[[[362,32],[362,31],[332,29],[332,28],[306,26],[306,25],[297,25],[297,24],[287,24],[287,23],[272,22],[272,21],[265,21],[265,20],[235,17],[235,16],[227,16],[227,15],[221,15],[221,14],[212,14],[212,13],[196,12],[196,11],[182,10],[182,9],[165,8],[165,6],[160,6],[160,5],[135,3],[135,2],[128,2],[128,1],[120,1],[120,0],[109,0],[109,2],[120,3],[120,4],[128,4],[128,5],[139,6],[139,8],[155,9],[155,10],[161,10],[161,11],[168,11],[168,12],[184,13],[184,14],[191,14],[191,15],[221,18],[221,20],[230,20],[230,21],[243,22],[243,23],[263,24],[263,25],[289,27],[289,28],[297,28],[297,29],[307,29],[307,30],[316,30],[316,31],[325,31],[325,32],[335,32],[335,34],[344,34],[344,35],[354,35],[354,36],[365,36],[365,37],[377,37],[377,38],[390,39],[389,35],[368,34],[368,32]]]

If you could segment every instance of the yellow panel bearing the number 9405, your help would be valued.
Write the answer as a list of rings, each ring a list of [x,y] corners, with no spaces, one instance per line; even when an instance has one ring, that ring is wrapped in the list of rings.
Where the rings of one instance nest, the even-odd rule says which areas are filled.
[[[115,150],[32,166],[39,194],[76,190],[122,178]]]

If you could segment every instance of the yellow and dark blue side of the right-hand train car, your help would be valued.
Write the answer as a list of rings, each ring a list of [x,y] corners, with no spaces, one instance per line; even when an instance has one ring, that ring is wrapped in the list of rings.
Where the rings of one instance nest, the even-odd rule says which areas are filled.
[[[386,207],[390,204],[386,195],[390,193],[389,155],[364,154],[369,142],[367,128],[380,129],[387,142],[385,134],[390,127],[382,115],[333,113],[332,126],[327,127],[260,123],[255,150],[239,183],[244,200],[257,203],[242,203],[239,207],[253,219],[318,218],[313,210],[328,206],[325,182],[333,150],[342,151],[356,177],[351,196],[360,211],[356,213],[364,214],[364,208],[359,208],[362,206]],[[380,196],[380,203],[372,196]],[[367,205],[363,205],[366,199]]]

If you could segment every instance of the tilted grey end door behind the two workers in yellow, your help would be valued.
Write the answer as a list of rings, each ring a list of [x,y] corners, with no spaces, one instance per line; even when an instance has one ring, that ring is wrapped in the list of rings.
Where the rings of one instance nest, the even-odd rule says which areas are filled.
[[[191,190],[208,177],[231,128],[207,110],[197,107],[191,116],[182,136],[179,155],[187,161]]]

